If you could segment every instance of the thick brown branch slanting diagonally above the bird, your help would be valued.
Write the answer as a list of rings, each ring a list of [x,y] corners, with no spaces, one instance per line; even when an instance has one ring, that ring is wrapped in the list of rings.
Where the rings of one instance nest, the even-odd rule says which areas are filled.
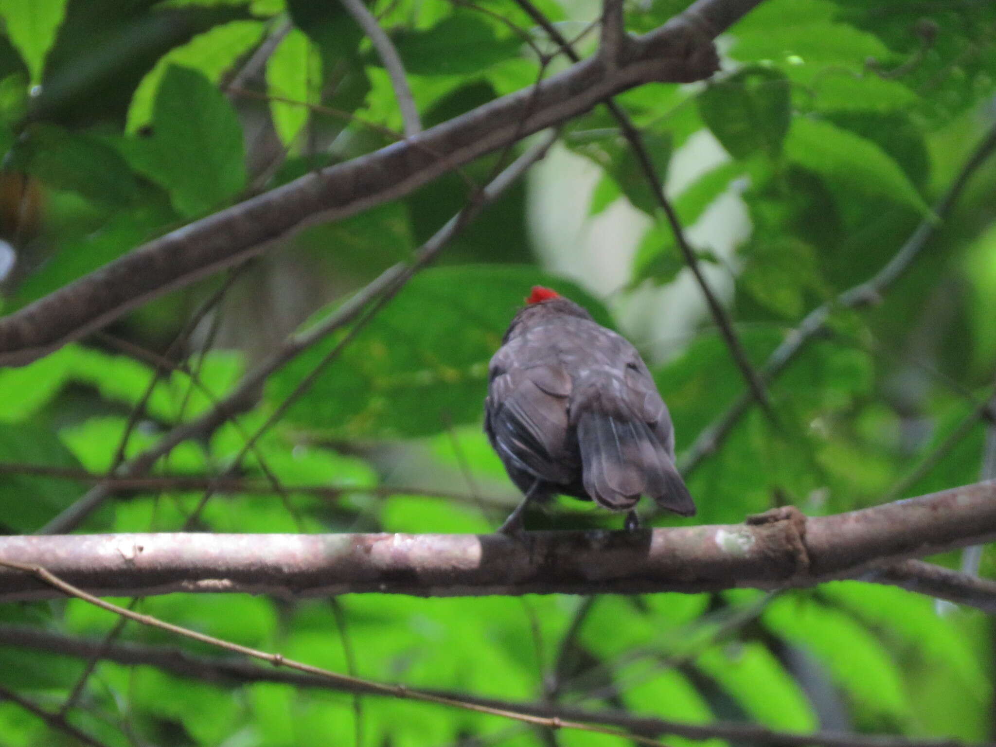
[[[610,70],[600,56],[367,155],[171,231],[0,319],[0,366],[21,366],[163,293],[245,261],[316,223],[403,197],[447,171],[650,82],[689,83],[718,68],[712,38],[760,0],[697,0],[627,41]]]

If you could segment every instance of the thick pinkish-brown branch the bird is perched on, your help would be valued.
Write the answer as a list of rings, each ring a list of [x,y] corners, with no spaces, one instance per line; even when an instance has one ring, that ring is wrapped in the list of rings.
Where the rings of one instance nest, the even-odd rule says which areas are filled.
[[[835,516],[792,508],[745,524],[493,535],[119,534],[0,538],[0,560],[98,596],[243,592],[283,598],[698,593],[860,577],[884,561],[996,539],[996,481]],[[0,602],[52,599],[0,569]]]

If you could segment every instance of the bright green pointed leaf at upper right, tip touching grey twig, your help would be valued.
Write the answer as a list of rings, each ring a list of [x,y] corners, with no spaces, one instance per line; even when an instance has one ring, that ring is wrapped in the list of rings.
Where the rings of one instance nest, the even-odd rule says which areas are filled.
[[[902,169],[878,145],[835,124],[796,118],[786,140],[789,158],[859,194],[885,197],[932,214]]]

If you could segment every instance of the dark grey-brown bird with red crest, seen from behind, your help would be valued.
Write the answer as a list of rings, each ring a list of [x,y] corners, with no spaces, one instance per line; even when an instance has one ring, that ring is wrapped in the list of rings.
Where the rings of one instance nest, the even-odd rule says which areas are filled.
[[[524,494],[498,530],[525,531],[554,495],[626,512],[641,495],[680,516],[695,503],[674,466],[674,426],[636,349],[556,291],[534,286],[488,367],[484,432]]]

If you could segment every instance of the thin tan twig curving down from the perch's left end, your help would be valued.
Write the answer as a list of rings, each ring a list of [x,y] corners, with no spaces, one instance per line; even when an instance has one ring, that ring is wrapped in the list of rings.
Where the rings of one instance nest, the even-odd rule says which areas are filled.
[[[362,687],[367,691],[379,694],[388,695],[391,697],[399,698],[402,700],[418,700],[426,703],[435,703],[437,705],[445,705],[452,708],[459,708],[462,710],[475,711],[477,713],[486,713],[492,716],[501,716],[503,718],[509,718],[515,721],[522,721],[523,723],[536,724],[539,726],[546,726],[552,729],[575,729],[578,731],[587,731],[595,734],[607,734],[610,736],[622,737],[625,739],[630,739],[637,744],[650,745],[650,747],[665,747],[661,742],[649,739],[647,737],[640,736],[638,734],[630,734],[619,729],[609,729],[601,726],[594,726],[592,724],[585,724],[578,721],[567,721],[559,717],[544,717],[544,716],[533,716],[528,713],[508,709],[508,708],[493,708],[491,706],[482,705],[479,703],[471,702],[469,700],[461,700],[458,698],[447,697],[443,695],[436,695],[434,693],[424,691],[424,690],[414,690],[406,687],[405,685],[391,685],[382,682],[376,682],[370,679],[362,679],[360,677],[350,676],[348,674],[342,674],[340,672],[334,672],[329,669],[323,669],[319,666],[313,666],[311,664],[306,664],[303,661],[298,661],[296,659],[287,658],[280,653],[270,653],[268,651],[263,651],[258,648],[251,648],[246,645],[241,645],[239,643],[232,642],[230,640],[225,640],[223,638],[216,638],[213,635],[207,635],[197,630],[191,630],[187,627],[182,627],[181,625],[173,624],[172,622],[165,622],[153,618],[150,615],[141,615],[135,613],[131,610],[127,610],[124,607],[119,607],[118,605],[113,605],[110,602],[106,602],[99,597],[95,597],[87,592],[79,589],[72,584],[68,584],[59,577],[50,573],[45,568],[41,566],[31,566],[24,563],[16,563],[13,561],[0,560],[0,566],[5,566],[7,568],[21,571],[26,574],[35,576],[40,581],[48,584],[54,589],[59,590],[63,594],[74,597],[84,602],[98,607],[102,610],[106,610],[114,615],[127,618],[128,620],[139,622],[140,624],[147,625],[149,627],[157,627],[160,630],[165,630],[171,632],[175,635],[181,635],[191,640],[196,640],[201,643],[207,643],[208,645],[213,645],[218,648],[223,648],[233,653],[240,653],[244,656],[251,656],[252,658],[257,658],[262,661],[267,661],[274,666],[286,666],[291,669],[297,669],[298,671],[305,672],[307,674],[314,674],[316,676],[322,677],[329,682],[335,682],[342,685],[350,687]],[[3,690],[0,690],[0,694],[6,694]],[[44,711],[42,712],[44,713]],[[41,714],[40,714],[41,715]],[[91,742],[91,744],[96,744]]]

